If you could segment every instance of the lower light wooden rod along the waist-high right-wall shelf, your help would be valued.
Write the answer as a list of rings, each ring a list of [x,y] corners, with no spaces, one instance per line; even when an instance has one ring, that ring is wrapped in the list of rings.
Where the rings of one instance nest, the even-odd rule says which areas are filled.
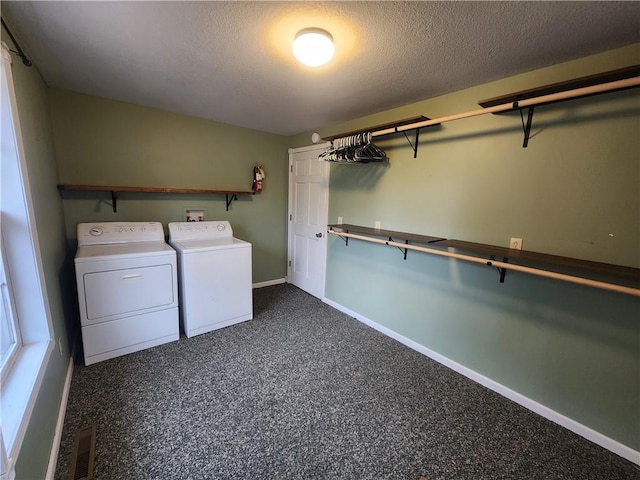
[[[356,235],[354,233],[336,232],[335,230],[329,230],[329,233],[332,233],[334,235],[338,235],[341,237],[355,238],[357,240],[364,240],[366,242],[381,243],[383,245],[390,245],[392,247],[408,248],[410,250],[417,250],[419,252],[431,253],[433,255],[440,255],[442,257],[456,258],[459,260],[466,260],[469,262],[479,263],[482,265],[489,265],[491,267],[505,268],[507,270],[516,270],[518,272],[530,273],[532,275],[538,275],[540,277],[553,278],[556,280],[563,280],[565,282],[577,283],[577,284],[585,285],[588,287],[601,288],[603,290],[610,290],[618,293],[625,293],[627,295],[634,295],[636,297],[640,297],[640,289],[625,287],[623,285],[616,285],[614,283],[600,282],[600,281],[591,280],[588,278],[575,277],[573,275],[566,275],[564,273],[550,272],[548,270],[525,267],[522,265],[514,265],[512,263],[499,262],[496,260],[486,260],[483,258],[472,257],[470,255],[463,255],[460,253],[453,253],[445,250],[435,250],[433,248],[420,247],[418,245],[408,245],[406,243],[381,240],[379,238],[366,237],[364,235]]]

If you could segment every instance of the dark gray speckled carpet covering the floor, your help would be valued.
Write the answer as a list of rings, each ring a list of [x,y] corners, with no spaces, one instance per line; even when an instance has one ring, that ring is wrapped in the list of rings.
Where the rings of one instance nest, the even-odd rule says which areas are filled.
[[[56,479],[636,479],[632,463],[290,285],[254,320],[76,367]]]

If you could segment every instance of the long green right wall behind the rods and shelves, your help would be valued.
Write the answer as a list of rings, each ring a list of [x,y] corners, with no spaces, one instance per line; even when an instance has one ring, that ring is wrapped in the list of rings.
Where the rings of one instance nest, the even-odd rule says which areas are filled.
[[[478,109],[481,99],[639,63],[606,52],[320,130]],[[332,165],[329,222],[640,267],[638,89],[377,142],[388,165]],[[526,112],[525,112],[526,114]],[[412,132],[410,133],[413,134]],[[292,138],[308,144],[310,133]],[[631,448],[640,449],[637,297],[377,244],[328,245],[326,297]]]

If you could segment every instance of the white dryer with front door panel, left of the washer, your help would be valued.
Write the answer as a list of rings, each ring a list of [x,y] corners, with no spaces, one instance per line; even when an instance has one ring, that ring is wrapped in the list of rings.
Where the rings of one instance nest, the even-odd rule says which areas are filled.
[[[157,222],[78,224],[85,365],[180,337],[177,255]]]

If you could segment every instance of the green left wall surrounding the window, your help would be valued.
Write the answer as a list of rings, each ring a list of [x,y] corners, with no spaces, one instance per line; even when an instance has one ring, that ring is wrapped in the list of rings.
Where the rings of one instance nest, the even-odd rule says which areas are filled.
[[[7,44],[11,41],[3,38]],[[65,267],[62,201],[56,189],[56,163],[47,106],[47,87],[36,67],[25,67],[12,56],[12,76],[38,229],[45,286],[51,311],[55,349],[49,357],[31,420],[16,462],[16,478],[45,477],[69,366],[65,310],[73,298],[72,279]],[[62,352],[58,342],[62,344]]]

